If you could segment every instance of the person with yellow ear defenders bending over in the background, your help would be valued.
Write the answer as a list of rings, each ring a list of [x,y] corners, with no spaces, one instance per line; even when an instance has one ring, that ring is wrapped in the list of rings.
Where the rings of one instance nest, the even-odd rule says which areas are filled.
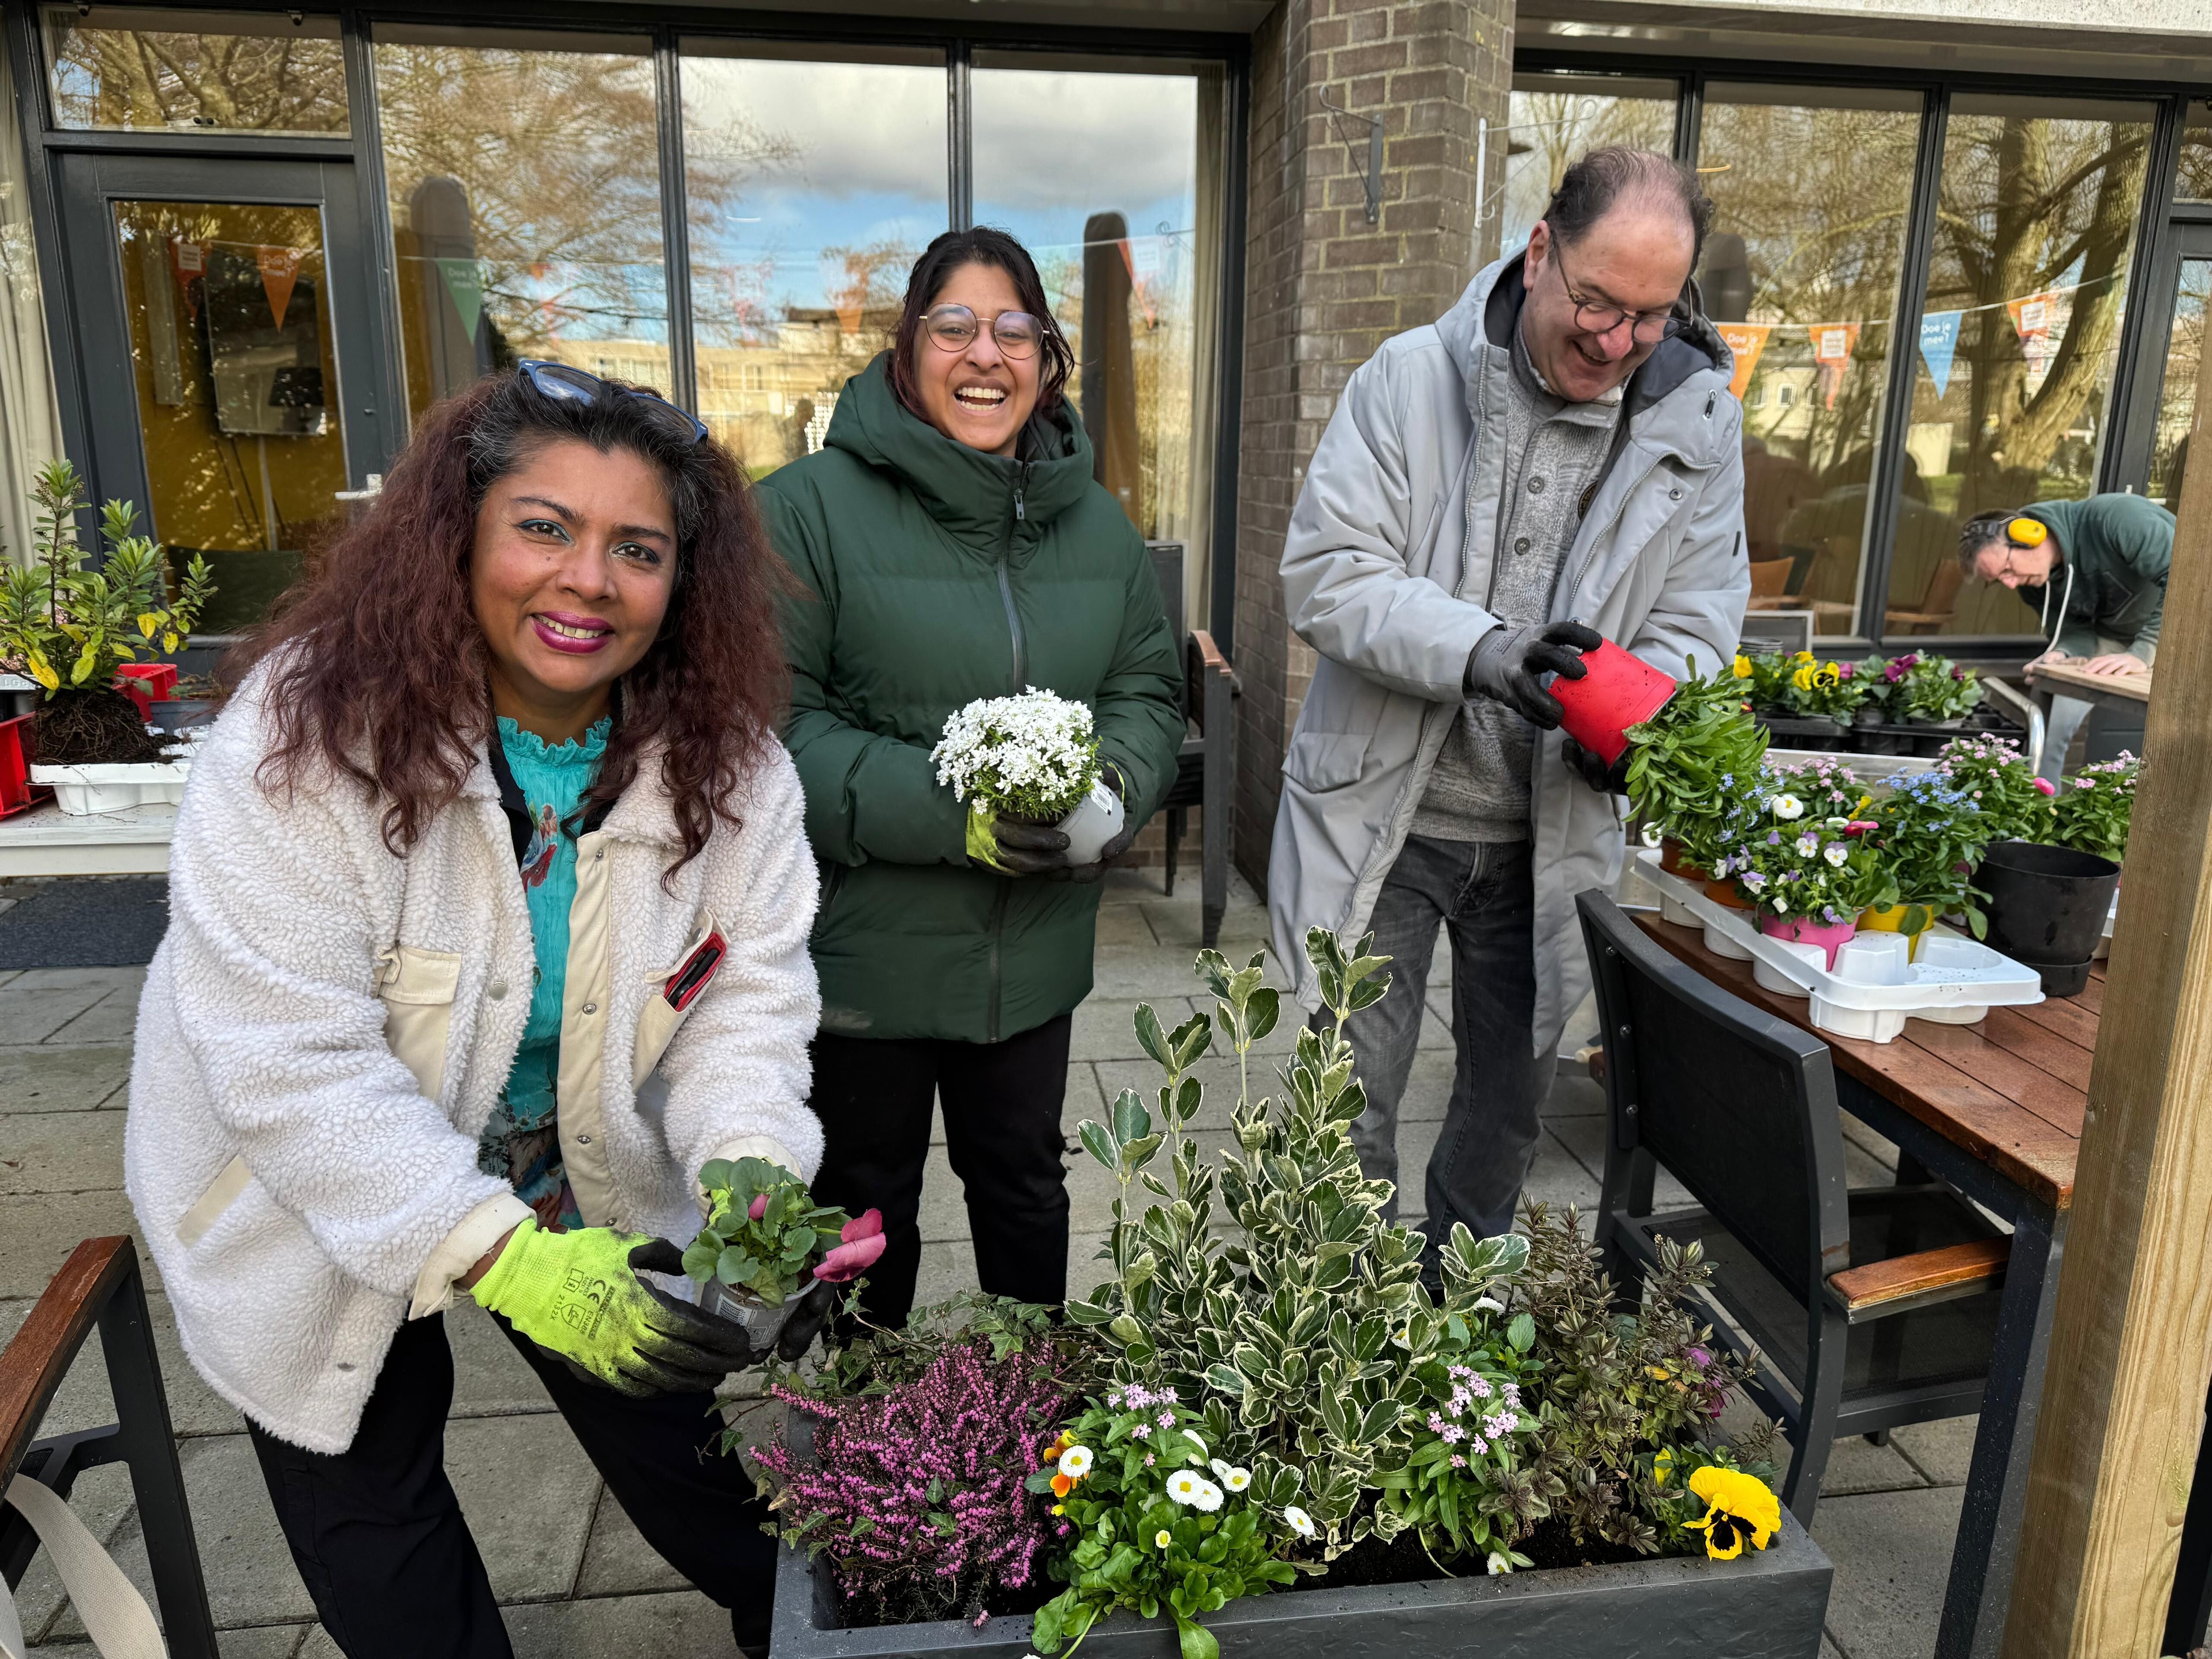
[[[2174,515],[2146,495],[1978,513],[1960,531],[1958,562],[1966,575],[2002,582],[2037,608],[2035,628],[2051,648],[2035,661],[2064,661],[2090,675],[2148,675],[2159,657]],[[2039,597],[2028,599],[2022,588],[2037,588]],[[2051,699],[2042,759],[2051,783],[2059,781],[2088,710],[2081,697]]]

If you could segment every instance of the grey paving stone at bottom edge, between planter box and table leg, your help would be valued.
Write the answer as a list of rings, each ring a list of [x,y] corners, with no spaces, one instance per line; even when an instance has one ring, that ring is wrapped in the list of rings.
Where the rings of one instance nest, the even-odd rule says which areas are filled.
[[[1958,1537],[1958,1486],[1825,1498],[1812,1535],[1836,1564],[1827,1630],[1849,1659],[1929,1659]]]

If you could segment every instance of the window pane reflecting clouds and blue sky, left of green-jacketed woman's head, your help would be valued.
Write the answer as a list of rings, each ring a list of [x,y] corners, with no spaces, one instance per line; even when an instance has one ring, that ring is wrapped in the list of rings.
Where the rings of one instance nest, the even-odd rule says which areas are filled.
[[[754,478],[823,447],[947,226],[945,58],[684,42],[699,418]]]

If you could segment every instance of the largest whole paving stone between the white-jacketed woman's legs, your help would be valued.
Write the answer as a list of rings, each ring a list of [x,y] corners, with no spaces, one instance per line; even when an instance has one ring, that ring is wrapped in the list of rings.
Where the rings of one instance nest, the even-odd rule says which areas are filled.
[[[500,1601],[568,1595],[599,1471],[557,1411],[447,1422],[445,1473]]]

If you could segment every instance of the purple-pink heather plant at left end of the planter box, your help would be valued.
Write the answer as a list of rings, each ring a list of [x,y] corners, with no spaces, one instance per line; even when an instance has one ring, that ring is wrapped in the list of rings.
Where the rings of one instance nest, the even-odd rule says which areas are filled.
[[[770,1509],[785,1542],[830,1557],[849,1617],[980,1621],[993,1597],[1042,1584],[1068,1528],[1024,1482],[1073,1394],[1040,1347],[993,1360],[987,1340],[960,1343],[889,1394],[772,1389],[814,1418],[814,1455],[787,1440],[754,1453],[781,1489]]]

